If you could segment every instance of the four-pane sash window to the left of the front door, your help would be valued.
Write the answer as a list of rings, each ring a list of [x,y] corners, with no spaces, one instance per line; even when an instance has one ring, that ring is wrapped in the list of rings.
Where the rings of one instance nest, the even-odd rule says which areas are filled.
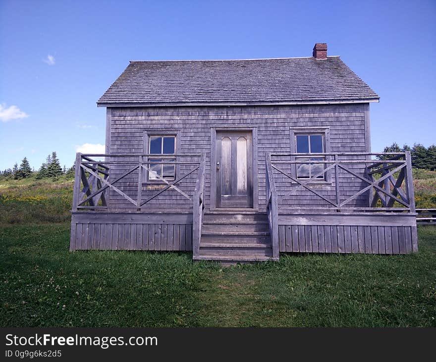
[[[153,155],[173,155],[176,150],[176,136],[175,135],[149,135],[149,150],[148,153]],[[148,172],[149,181],[175,180],[175,165],[165,165],[158,162],[175,162],[175,158],[149,157],[150,171]]]

